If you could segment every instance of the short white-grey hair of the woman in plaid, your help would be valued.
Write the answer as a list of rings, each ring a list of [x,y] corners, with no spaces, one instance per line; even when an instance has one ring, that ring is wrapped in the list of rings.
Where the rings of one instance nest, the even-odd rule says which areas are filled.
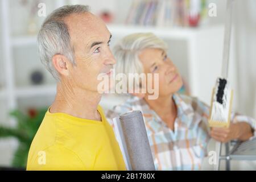
[[[115,73],[143,73],[143,65],[139,54],[143,49],[156,48],[167,51],[167,44],[152,33],[130,34],[122,38],[113,48],[115,59]]]

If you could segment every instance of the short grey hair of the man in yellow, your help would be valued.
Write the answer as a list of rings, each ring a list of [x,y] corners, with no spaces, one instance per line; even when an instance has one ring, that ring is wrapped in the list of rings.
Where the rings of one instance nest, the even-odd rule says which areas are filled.
[[[71,14],[89,12],[89,6],[67,5],[54,10],[47,16],[38,34],[39,56],[43,65],[56,80],[60,81],[59,73],[52,64],[52,57],[60,54],[68,58],[75,65],[75,50],[71,45],[68,26],[64,18]]]

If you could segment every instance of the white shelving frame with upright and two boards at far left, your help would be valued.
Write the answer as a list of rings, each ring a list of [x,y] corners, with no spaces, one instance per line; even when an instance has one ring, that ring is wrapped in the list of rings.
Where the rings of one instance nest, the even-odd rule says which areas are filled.
[[[65,0],[56,0],[55,7],[60,7],[65,5]],[[26,88],[16,88],[15,78],[14,78],[14,59],[13,59],[13,49],[24,47],[27,45],[36,46],[36,36],[12,36],[10,28],[10,1],[1,1],[1,15],[2,15],[2,40],[3,40],[3,60],[5,67],[5,91],[0,90],[0,98],[7,98],[7,107],[9,110],[15,109],[17,106],[18,97],[29,97],[35,95],[47,95],[54,94],[53,89],[55,86],[44,85],[44,86],[31,86]]]

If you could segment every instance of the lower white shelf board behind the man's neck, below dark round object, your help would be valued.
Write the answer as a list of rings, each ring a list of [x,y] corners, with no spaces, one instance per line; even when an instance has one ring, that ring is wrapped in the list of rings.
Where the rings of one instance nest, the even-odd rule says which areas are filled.
[[[33,96],[54,96],[56,94],[56,85],[40,85],[40,86],[27,86],[15,89],[15,96],[33,97]]]

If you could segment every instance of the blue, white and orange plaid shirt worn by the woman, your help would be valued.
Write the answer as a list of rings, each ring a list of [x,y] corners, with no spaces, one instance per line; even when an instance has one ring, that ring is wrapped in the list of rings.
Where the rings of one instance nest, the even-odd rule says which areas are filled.
[[[131,97],[125,104],[114,106],[106,112],[112,127],[113,118],[129,110],[141,110],[151,146],[156,170],[199,170],[207,156],[209,135],[209,106],[195,97],[174,94],[177,117],[174,131],[160,119],[146,101]],[[256,121],[244,115],[232,113],[232,122],[247,122],[256,135]]]

